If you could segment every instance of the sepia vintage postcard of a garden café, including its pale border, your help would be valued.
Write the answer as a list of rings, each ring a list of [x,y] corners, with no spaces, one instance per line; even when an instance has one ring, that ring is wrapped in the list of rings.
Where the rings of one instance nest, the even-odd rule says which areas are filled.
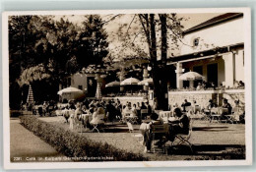
[[[251,165],[250,16],[4,12],[5,168]]]

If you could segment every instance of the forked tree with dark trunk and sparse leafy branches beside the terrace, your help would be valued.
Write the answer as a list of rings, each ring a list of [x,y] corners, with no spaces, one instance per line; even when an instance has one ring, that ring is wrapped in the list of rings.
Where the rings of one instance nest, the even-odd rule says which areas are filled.
[[[134,37],[129,36],[131,33],[128,31],[131,25],[137,24],[138,21],[141,28],[136,30]],[[157,18],[158,17],[158,18]],[[126,34],[123,37],[125,41],[124,47],[135,47],[135,39],[140,34],[144,35],[141,40],[147,42],[148,51],[145,53],[149,54],[149,58],[152,64],[152,76],[154,81],[154,94],[156,97],[157,109],[167,109],[167,99],[165,94],[167,93],[166,78],[164,77],[167,50],[169,48],[167,39],[170,40],[171,45],[177,46],[177,42],[180,40],[182,26],[180,22],[182,18],[178,18],[176,14],[138,14],[134,15],[132,21],[127,28]],[[123,26],[121,26],[123,28]],[[160,32],[160,36],[159,35]],[[167,34],[169,32],[169,34]],[[160,37],[160,43],[157,39]],[[158,61],[158,48],[160,48],[160,61]]]

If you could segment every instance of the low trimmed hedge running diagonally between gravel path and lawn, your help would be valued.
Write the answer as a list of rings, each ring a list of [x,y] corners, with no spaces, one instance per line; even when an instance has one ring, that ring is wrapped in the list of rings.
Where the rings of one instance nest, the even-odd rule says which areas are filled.
[[[69,157],[112,157],[111,159],[94,159],[93,161],[149,160],[142,154],[131,153],[108,143],[96,143],[70,130],[41,121],[32,115],[24,115],[20,119],[21,124],[32,131],[34,135]],[[89,161],[89,159],[79,160]]]

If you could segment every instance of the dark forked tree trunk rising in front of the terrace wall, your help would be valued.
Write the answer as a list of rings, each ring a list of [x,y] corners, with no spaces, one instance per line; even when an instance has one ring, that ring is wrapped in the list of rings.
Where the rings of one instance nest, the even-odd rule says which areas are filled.
[[[163,64],[158,64],[157,61],[157,38],[156,38],[156,24],[155,24],[155,15],[141,15],[140,21],[142,27],[146,33],[147,41],[149,44],[150,50],[150,59],[152,65],[152,77],[154,83],[154,97],[156,101],[157,110],[167,110],[168,99],[165,98],[165,93],[167,93],[167,83],[165,75],[165,62],[167,56],[167,38],[166,38],[166,16],[160,15],[161,22],[161,61]],[[146,23],[143,22],[143,19]]]

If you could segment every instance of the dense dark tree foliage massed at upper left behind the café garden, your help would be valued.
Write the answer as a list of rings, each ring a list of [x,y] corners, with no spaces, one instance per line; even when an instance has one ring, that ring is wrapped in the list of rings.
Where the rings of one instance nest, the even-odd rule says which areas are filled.
[[[38,82],[56,86],[45,90],[50,96],[58,84],[66,84],[67,76],[89,64],[101,64],[108,53],[107,34],[99,16],[85,16],[83,27],[64,16],[11,16],[8,22],[11,108],[25,99],[28,85],[36,85],[33,89],[41,88]],[[92,33],[96,37],[90,38]],[[95,48],[89,48],[91,45]],[[45,82],[47,79],[52,84]]]

